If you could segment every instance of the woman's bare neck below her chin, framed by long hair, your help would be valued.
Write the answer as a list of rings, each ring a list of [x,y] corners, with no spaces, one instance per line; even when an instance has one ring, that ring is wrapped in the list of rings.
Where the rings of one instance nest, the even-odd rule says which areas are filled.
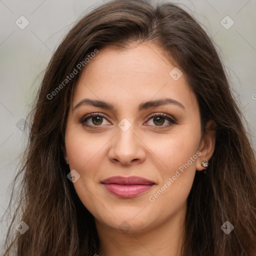
[[[180,256],[186,203],[160,225],[146,230],[122,232],[95,219],[100,248],[98,256]]]

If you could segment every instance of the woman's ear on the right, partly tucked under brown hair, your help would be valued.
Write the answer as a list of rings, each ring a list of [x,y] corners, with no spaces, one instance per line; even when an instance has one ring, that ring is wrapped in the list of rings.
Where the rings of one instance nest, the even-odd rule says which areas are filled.
[[[206,124],[204,134],[201,138],[198,150],[199,157],[196,159],[196,170],[203,170],[205,167],[201,165],[203,160],[208,161],[213,154],[215,148],[215,132],[216,124],[213,120],[209,120]]]

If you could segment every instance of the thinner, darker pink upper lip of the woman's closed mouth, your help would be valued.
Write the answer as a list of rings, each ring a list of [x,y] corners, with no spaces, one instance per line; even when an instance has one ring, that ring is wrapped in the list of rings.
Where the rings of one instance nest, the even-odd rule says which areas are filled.
[[[138,177],[138,176],[129,176],[129,177],[112,176],[112,177],[102,180],[101,183],[120,184],[120,185],[134,185],[134,184],[151,185],[151,184],[155,184],[151,180],[148,180],[148,179],[142,178],[142,177]]]

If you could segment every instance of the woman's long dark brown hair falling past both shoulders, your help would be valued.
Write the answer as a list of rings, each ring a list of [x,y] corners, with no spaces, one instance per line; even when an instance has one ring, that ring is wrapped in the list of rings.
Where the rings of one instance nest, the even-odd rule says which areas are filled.
[[[22,177],[15,188],[18,205],[4,256],[11,250],[18,256],[80,256],[98,251],[93,216],[67,178],[66,117],[82,70],[77,65],[86,68],[84,59],[95,49],[124,50],[132,42],[154,43],[182,70],[199,104],[202,133],[208,120],[216,124],[207,173],[196,171],[187,198],[182,255],[256,255],[255,153],[215,46],[199,23],[176,4],[112,0],[73,26],[46,68],[30,112],[24,162],[15,176],[15,183]],[[65,80],[74,68],[78,74]],[[19,220],[29,226],[24,234],[15,230]],[[229,234],[220,228],[227,220],[234,226]]]

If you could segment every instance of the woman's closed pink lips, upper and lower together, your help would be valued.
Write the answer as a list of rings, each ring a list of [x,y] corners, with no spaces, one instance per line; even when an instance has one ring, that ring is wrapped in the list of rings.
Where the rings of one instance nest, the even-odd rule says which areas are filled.
[[[101,181],[106,190],[119,197],[133,197],[149,190],[155,183],[137,176],[113,176]]]

